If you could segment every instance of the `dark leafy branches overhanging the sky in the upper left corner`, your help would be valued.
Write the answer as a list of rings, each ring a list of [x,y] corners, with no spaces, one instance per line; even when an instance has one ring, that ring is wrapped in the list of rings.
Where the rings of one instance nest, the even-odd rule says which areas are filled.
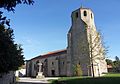
[[[18,4],[28,4],[28,5],[33,5],[34,1],[33,0],[1,0],[0,1],[0,8],[3,8],[7,11],[15,11],[15,7]],[[3,17],[3,12],[0,11],[0,24],[6,24],[7,26],[10,26],[10,19],[6,19],[6,17]]]

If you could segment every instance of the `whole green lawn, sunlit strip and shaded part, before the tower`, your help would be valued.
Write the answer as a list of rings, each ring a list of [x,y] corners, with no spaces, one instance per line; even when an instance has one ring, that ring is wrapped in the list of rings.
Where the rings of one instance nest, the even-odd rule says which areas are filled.
[[[52,84],[120,84],[120,73],[107,74],[103,77],[61,77]]]

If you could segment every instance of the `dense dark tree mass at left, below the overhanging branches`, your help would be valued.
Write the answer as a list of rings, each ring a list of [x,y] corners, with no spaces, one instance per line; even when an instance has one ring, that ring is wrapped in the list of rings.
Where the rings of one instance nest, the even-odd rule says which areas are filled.
[[[24,64],[22,48],[14,42],[11,28],[0,24],[0,73],[15,71]]]

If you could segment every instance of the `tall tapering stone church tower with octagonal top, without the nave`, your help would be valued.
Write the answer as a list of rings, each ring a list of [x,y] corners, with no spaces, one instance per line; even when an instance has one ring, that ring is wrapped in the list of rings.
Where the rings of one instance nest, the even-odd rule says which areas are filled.
[[[72,26],[68,32],[67,76],[75,75],[76,65],[80,65],[83,75],[91,76],[94,73],[95,76],[100,76],[102,73],[107,73],[107,65],[105,59],[103,59],[103,54],[92,58],[93,70],[91,67],[91,56],[98,54],[97,51],[93,52],[92,55],[90,53],[90,40],[92,40],[92,45],[97,44],[94,39],[98,33],[92,10],[79,8],[72,12],[71,18]],[[90,36],[92,36],[92,39],[90,39]],[[101,39],[100,36],[98,38]],[[100,48],[102,47],[102,44],[100,44]],[[99,51],[100,49],[96,47],[96,50]]]

